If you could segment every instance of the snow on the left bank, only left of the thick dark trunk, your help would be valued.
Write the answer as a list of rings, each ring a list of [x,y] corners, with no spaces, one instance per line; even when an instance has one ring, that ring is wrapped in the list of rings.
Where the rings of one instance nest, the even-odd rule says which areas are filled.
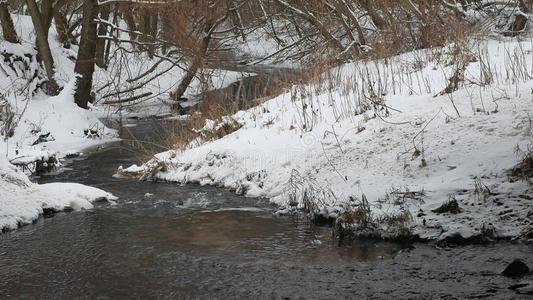
[[[20,57],[35,55],[29,17],[14,17],[23,42],[13,45],[0,41],[0,53],[7,51]],[[91,209],[94,201],[116,199],[100,189],[75,183],[35,184],[28,178],[27,168],[23,171],[22,167],[14,166],[50,158],[60,161],[82,149],[117,139],[117,133],[98,119],[96,107],[83,110],[74,103],[73,62],[68,59],[68,54],[75,54],[74,50],[63,49],[55,38],[55,31],[50,35],[50,44],[56,77],[63,85],[63,90],[55,97],[28,92],[38,84],[32,80],[34,72],[43,72],[31,55],[25,57],[27,66],[19,62],[14,64],[16,71],[5,61],[0,62],[4,71],[0,71],[0,95],[6,98],[18,123],[12,137],[0,140],[0,231],[31,223],[44,210]]]

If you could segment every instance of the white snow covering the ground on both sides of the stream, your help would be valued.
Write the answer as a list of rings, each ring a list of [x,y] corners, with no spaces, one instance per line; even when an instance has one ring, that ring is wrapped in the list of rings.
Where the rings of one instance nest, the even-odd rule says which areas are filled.
[[[56,79],[64,89],[56,97],[31,95],[28,91],[44,76],[31,58],[35,57],[33,26],[28,16],[14,16],[14,21],[22,44],[0,41],[0,53],[24,58],[11,61],[17,70],[0,61],[0,90],[18,122],[14,136],[0,142],[0,229],[30,223],[45,209],[90,209],[95,200],[114,199],[105,191],[78,184],[34,184],[13,164],[61,160],[115,140],[116,132],[99,117],[168,114],[168,93],[179,82],[176,78],[183,76],[174,68],[121,95],[151,92],[152,98],[136,106],[101,109],[99,103],[117,100],[106,97],[117,89],[139,85],[122,76],[138,77],[157,62],[123,53],[111,62],[112,72],[96,70],[99,103],[79,109],[73,102],[77,48],[64,49],[52,26],[49,42]],[[238,47],[252,60],[280,50],[267,36],[257,32]],[[468,62],[464,84],[451,94],[440,93],[459,64],[460,57],[452,55],[454,45],[353,62],[236,113],[231,119],[242,127],[232,134],[195,141],[184,151],[160,153],[142,166],[120,169],[119,175],[150,172],[163,162],[166,171],[155,179],[218,185],[249,197],[268,197],[280,212],[290,211],[291,198],[302,206],[304,194],[313,191],[317,212],[336,217],[352,205],[350,199],[364,195],[375,216],[407,209],[413,216],[410,229],[422,238],[455,234],[468,238],[487,228],[498,237],[520,236],[531,226],[533,192],[525,181],[511,182],[507,171],[520,159],[516,149],[527,149],[533,142],[533,43],[531,38],[492,39],[472,41],[469,46],[477,59]],[[163,62],[157,71],[170,65]],[[33,80],[35,74],[41,77]],[[209,75],[209,89],[251,75],[210,69],[203,74]],[[195,79],[185,95],[191,101],[184,106],[193,105],[203,87]],[[198,133],[232,124],[231,119],[208,120]],[[462,212],[432,212],[449,199],[457,200]]]

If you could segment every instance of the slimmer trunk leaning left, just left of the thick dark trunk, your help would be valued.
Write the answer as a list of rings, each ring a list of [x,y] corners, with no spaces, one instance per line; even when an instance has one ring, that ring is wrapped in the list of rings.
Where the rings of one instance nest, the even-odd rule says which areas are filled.
[[[37,7],[35,0],[26,0],[26,3],[28,4],[28,10],[37,34],[37,48],[39,50],[39,55],[44,64],[46,76],[48,77],[48,94],[57,95],[59,92],[59,87],[54,78],[54,59],[52,57],[52,51],[50,51],[50,45],[48,44],[48,34],[46,34],[47,30],[45,30],[39,8]]]

